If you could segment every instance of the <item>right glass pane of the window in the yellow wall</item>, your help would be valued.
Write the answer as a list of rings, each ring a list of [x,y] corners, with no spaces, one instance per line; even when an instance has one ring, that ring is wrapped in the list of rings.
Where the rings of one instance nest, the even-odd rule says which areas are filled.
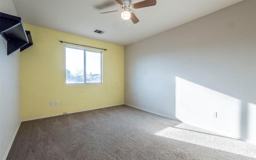
[[[86,51],[86,83],[101,82],[101,53]]]

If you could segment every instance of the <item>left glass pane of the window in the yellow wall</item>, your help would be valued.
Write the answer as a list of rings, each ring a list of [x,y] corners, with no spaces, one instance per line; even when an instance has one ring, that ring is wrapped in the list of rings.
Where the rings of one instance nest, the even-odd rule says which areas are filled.
[[[84,50],[66,47],[66,84],[84,83]]]

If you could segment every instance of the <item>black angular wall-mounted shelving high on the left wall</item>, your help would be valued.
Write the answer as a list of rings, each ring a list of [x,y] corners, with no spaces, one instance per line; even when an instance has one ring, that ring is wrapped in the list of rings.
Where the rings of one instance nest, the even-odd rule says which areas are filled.
[[[0,12],[0,34],[7,41],[7,55],[20,48],[21,52],[33,44],[31,34],[29,31],[26,33],[21,18],[2,12]]]

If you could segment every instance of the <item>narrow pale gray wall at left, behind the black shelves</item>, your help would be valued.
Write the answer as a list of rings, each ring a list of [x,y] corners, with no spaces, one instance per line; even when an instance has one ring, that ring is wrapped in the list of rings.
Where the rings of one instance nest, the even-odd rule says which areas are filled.
[[[12,0],[0,0],[0,12],[17,16]],[[20,124],[20,51],[7,56],[0,36],[0,160],[6,158]]]

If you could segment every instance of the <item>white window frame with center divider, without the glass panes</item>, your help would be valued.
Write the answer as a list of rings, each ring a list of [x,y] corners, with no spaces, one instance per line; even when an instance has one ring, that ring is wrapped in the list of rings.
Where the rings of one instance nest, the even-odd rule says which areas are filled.
[[[102,52],[98,50],[88,50],[85,48],[79,48],[79,47],[74,47],[74,46],[66,46],[65,47],[65,68],[66,68],[66,48],[72,48],[72,49],[77,49],[77,50],[84,50],[84,83],[66,83],[66,85],[84,85],[84,84],[102,84]],[[94,53],[100,53],[100,82],[88,82],[86,83],[86,51],[87,52],[94,52]],[[67,68],[66,68],[67,69]],[[67,79],[67,75],[65,78],[65,81]]]

